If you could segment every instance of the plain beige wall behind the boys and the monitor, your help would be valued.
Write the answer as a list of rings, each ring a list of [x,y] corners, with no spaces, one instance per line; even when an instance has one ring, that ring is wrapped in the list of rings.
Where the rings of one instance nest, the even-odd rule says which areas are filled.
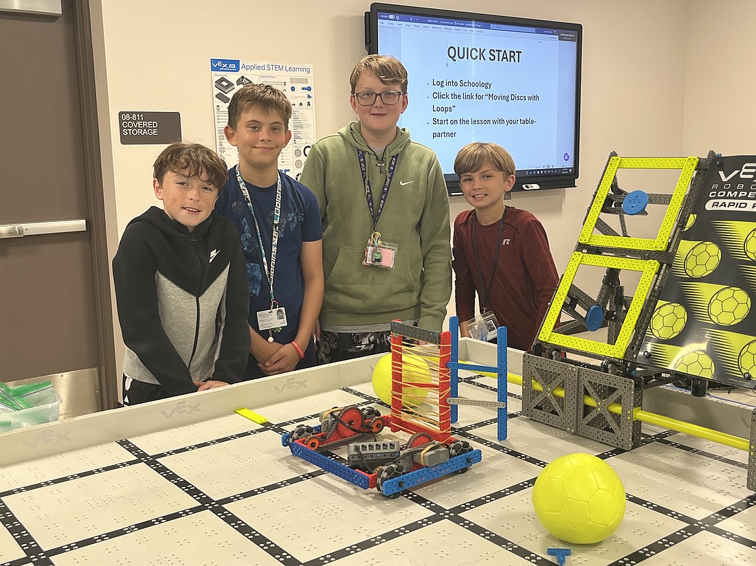
[[[460,9],[458,0],[412,3]],[[709,147],[756,153],[746,137],[751,124],[739,119],[754,91],[752,4],[733,0],[716,6],[703,0],[464,4],[468,11],[584,26],[578,187],[516,193],[511,201],[541,219],[559,271],[575,246],[610,150],[626,156],[705,155]],[[369,7],[367,0],[103,0],[93,20],[101,27],[95,37],[103,38],[98,88],[104,93],[104,190],[116,203],[111,234],[121,234],[129,219],[156,203],[150,168],[161,149],[122,146],[119,110],[178,111],[185,139],[215,147],[210,57],[312,63],[317,134],[327,135],[353,118],[347,79],[365,53],[363,13]],[[412,102],[407,111],[412,112]],[[462,197],[452,197],[451,219],[466,208]],[[112,242],[111,249],[116,245]]]

